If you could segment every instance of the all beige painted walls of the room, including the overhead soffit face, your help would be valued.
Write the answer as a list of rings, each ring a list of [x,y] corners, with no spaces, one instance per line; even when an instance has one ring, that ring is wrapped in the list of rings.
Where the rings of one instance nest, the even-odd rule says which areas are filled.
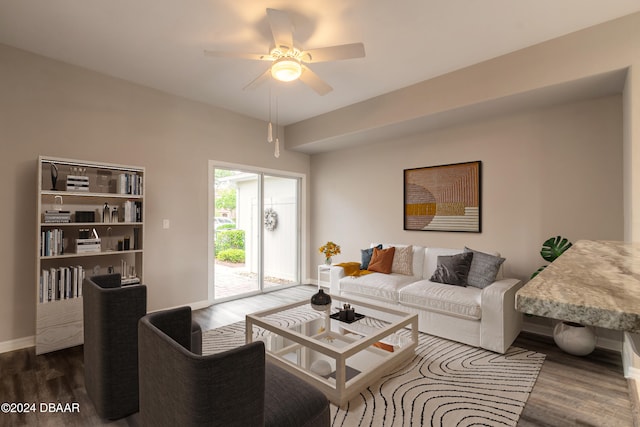
[[[356,257],[371,240],[412,241],[500,250],[509,259],[507,272],[525,277],[552,234],[637,241],[639,36],[640,13],[288,126],[285,142],[301,150],[326,140],[339,146],[341,138],[358,133],[402,128],[424,117],[438,121],[469,106],[628,69],[623,99],[502,114],[314,155],[311,162],[291,151],[274,159],[272,147],[262,143],[260,121],[0,45],[0,227],[7,238],[0,246],[0,343],[34,332],[39,154],[147,167],[151,309],[207,297],[208,159],[298,173],[312,168],[313,235],[303,255],[312,266],[321,261],[316,248],[326,240],[344,246],[338,260]],[[402,231],[402,169],[466,160],[484,162],[484,232]],[[569,172],[561,166],[567,163]],[[565,174],[560,185],[551,182],[554,173]],[[562,214],[543,208],[549,204],[559,204]],[[165,218],[170,230],[161,229]],[[315,276],[313,268],[310,273]]]

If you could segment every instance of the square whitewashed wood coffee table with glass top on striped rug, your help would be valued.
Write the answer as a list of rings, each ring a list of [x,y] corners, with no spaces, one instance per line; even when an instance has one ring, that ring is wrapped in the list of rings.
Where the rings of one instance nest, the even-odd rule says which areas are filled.
[[[349,298],[332,299],[326,312],[300,301],[248,314],[246,342],[263,341],[269,360],[343,406],[415,355],[418,316]],[[355,321],[337,319],[345,304],[355,308]]]

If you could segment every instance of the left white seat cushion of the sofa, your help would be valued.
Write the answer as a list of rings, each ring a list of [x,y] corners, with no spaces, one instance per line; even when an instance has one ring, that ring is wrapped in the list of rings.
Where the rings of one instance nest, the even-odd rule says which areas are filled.
[[[371,273],[360,277],[347,276],[340,279],[340,292],[397,303],[398,291],[413,281],[415,281],[413,276],[396,273]]]

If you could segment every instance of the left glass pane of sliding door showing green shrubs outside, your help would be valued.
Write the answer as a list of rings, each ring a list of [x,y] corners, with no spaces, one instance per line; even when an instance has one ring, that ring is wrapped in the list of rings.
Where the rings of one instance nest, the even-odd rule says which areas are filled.
[[[256,201],[259,175],[215,169],[214,299],[260,290]]]

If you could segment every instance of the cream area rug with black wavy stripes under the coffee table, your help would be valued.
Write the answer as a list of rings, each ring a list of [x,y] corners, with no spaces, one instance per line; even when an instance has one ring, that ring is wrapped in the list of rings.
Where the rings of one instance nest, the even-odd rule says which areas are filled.
[[[203,354],[244,341],[244,322],[206,331]],[[413,359],[345,407],[331,405],[332,425],[515,426],[543,362],[543,354],[517,347],[497,354],[420,333]]]

